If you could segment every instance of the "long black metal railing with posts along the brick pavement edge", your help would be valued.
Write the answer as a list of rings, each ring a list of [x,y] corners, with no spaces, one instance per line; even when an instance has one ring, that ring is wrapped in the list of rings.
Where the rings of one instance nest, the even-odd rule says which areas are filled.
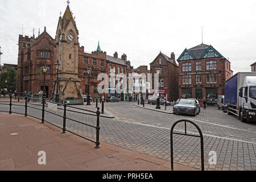
[[[97,111],[92,111],[92,110],[87,110],[87,109],[81,109],[79,107],[69,106],[69,105],[67,105],[67,101],[65,101],[64,104],[59,104],[59,103],[56,103],[56,102],[47,101],[44,97],[42,99],[40,99],[40,98],[33,98],[34,100],[39,101],[39,103],[30,103],[30,101],[32,101],[32,98],[31,97],[27,97],[27,94],[24,97],[18,97],[18,96],[15,97],[16,99],[18,99],[18,101],[15,101],[15,102],[13,102],[13,96],[4,96],[4,97],[2,96],[1,98],[10,98],[10,100],[8,100],[8,101],[1,101],[0,100],[0,105],[9,105],[9,111],[6,111],[6,110],[0,110],[0,111],[2,111],[2,112],[9,112],[9,114],[12,114],[12,113],[24,114],[25,117],[30,116],[30,117],[34,117],[36,119],[40,119],[42,121],[42,123],[47,122],[47,123],[49,123],[49,124],[51,124],[53,126],[56,126],[56,127],[60,128],[60,129],[62,129],[62,133],[66,133],[66,131],[68,131],[69,133],[72,133],[74,135],[77,135],[78,137],[84,138],[86,140],[89,140],[90,142],[95,143],[96,144],[95,148],[100,148],[100,140],[99,140],[100,139],[100,114],[101,114],[100,107],[97,107]],[[24,101],[23,102],[19,102],[19,99],[22,99]],[[52,103],[52,104],[56,104],[57,105],[57,110],[63,110],[63,114],[56,114],[56,113],[53,113],[52,111],[46,110],[46,102],[49,102],[49,103]],[[19,103],[19,104],[14,104],[14,103]],[[24,113],[19,113],[19,112],[13,111],[12,110],[13,106],[24,107]],[[63,108],[60,108],[58,106],[63,106]],[[72,109],[67,109],[67,107],[71,107]],[[32,115],[32,114],[28,113],[28,108],[42,111],[42,117],[38,118],[35,115]],[[76,111],[74,109],[81,110],[81,111]],[[97,117],[97,119],[96,119],[96,126],[89,125],[88,123],[84,123],[84,122],[81,122],[81,121],[77,121],[76,119],[71,118],[71,117],[67,117],[67,111],[69,113],[78,113],[78,114],[94,115],[94,116],[96,116]],[[90,113],[96,113],[96,115],[95,114],[90,114],[90,113],[83,113],[82,111],[88,111]],[[53,123],[51,123],[49,121],[46,121],[46,119],[45,119],[45,114],[46,113],[50,113],[50,114],[56,115],[57,117],[63,118],[63,127],[57,126],[57,125],[55,125],[55,124],[53,124]],[[104,113],[104,109],[103,108],[102,108],[102,113]],[[80,123],[81,125],[85,125],[85,126],[88,126],[88,127],[93,127],[94,129],[96,129],[96,141],[91,140],[91,139],[86,138],[86,137],[83,137],[82,135],[79,135],[79,134],[77,134],[77,133],[75,133],[73,131],[67,130],[66,129],[67,119],[70,120],[70,121],[76,122],[76,123]]]

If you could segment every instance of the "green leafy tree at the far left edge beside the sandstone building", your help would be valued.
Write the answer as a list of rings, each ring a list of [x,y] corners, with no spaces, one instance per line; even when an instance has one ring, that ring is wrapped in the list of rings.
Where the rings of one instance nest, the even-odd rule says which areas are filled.
[[[7,81],[7,82],[5,82]],[[7,88],[9,89],[10,86],[14,86],[11,90],[15,90],[16,88],[16,81],[17,81],[17,73],[14,68],[7,68],[5,71],[1,72],[0,75],[0,89]]]

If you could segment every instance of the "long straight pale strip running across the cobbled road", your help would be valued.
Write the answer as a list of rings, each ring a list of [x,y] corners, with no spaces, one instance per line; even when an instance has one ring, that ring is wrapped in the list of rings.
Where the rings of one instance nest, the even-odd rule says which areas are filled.
[[[125,123],[133,123],[133,124],[135,124],[135,125],[141,125],[141,126],[155,127],[155,128],[158,128],[158,129],[171,130],[171,129],[169,129],[168,127],[154,126],[154,125],[148,125],[148,124],[143,124],[143,123],[138,123],[138,122],[130,122],[130,121],[124,121],[124,120],[118,120],[118,119],[111,119],[111,120],[119,121],[119,122],[121,121],[121,122],[125,122]],[[175,131],[184,132],[184,130],[176,130],[176,129],[175,129]],[[205,132],[207,132],[207,131],[205,131]],[[187,131],[187,133],[190,133],[190,134],[199,134],[199,133],[194,133],[194,132],[190,132],[190,131]],[[233,138],[226,138],[226,137],[220,137],[220,136],[208,135],[208,134],[203,134],[203,135],[204,135],[204,136],[207,136],[207,137],[214,137],[214,138],[220,138],[220,139],[233,140],[233,141],[237,141],[237,142],[245,142],[245,143],[256,144],[256,142],[249,142],[249,141],[246,141],[246,140],[233,139]]]

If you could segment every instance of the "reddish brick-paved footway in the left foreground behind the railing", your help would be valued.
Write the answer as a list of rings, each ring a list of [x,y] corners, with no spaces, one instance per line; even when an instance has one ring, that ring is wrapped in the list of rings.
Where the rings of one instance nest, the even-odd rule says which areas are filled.
[[[140,170],[170,171],[170,161],[136,151],[88,140],[66,133],[38,119],[0,113],[0,170]],[[12,134],[16,135],[12,135]],[[46,152],[46,165],[39,165],[39,151]],[[174,165],[175,170],[196,170]]]

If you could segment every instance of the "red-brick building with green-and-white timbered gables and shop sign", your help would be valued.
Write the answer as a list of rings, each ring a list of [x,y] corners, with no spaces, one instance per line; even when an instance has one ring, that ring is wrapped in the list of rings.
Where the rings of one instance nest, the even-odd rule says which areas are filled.
[[[233,75],[230,61],[212,46],[200,44],[185,49],[179,62],[179,98],[216,102],[224,95],[225,81]]]

